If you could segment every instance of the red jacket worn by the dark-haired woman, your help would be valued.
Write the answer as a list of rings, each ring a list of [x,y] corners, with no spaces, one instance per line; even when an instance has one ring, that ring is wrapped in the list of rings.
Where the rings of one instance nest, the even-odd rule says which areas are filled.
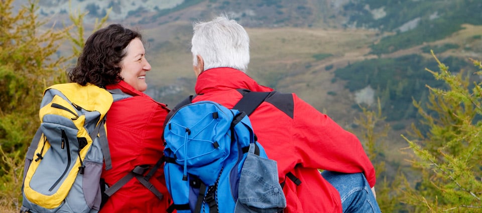
[[[112,169],[103,170],[101,177],[112,185],[134,167],[143,164],[152,167],[161,158],[164,150],[161,136],[169,109],[124,81],[106,88],[121,89],[133,96],[114,102],[107,112]],[[162,200],[133,178],[109,197],[100,212],[165,212],[170,198],[162,167],[151,178],[151,183],[163,193]]]

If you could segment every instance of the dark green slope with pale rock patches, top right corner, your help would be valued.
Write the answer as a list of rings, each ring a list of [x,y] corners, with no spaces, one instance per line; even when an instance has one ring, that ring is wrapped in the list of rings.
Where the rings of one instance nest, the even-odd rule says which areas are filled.
[[[473,0],[362,0],[344,5],[349,24],[396,33],[374,44],[375,54],[443,39],[461,30],[463,24],[481,25],[481,9],[482,3]]]

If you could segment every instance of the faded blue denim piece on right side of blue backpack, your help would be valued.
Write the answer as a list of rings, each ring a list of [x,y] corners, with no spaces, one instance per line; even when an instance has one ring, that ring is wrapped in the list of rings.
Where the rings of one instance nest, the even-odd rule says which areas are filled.
[[[286,198],[278,182],[277,162],[254,154],[254,149],[255,144],[250,144],[239,178],[234,212],[278,212],[286,207]]]

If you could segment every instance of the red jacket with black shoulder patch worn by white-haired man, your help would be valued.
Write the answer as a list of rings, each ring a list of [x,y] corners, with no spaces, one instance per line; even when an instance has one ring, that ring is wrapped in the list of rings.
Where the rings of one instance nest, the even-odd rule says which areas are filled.
[[[239,88],[273,90],[241,71],[215,68],[198,76],[193,102],[210,100],[232,108],[242,98],[236,90]],[[375,185],[375,169],[356,136],[295,94],[276,93],[268,97],[250,119],[268,156],[278,161],[280,182],[290,171],[301,180],[296,185],[286,179],[285,212],[341,212],[338,191],[318,169],[364,172],[370,186]]]

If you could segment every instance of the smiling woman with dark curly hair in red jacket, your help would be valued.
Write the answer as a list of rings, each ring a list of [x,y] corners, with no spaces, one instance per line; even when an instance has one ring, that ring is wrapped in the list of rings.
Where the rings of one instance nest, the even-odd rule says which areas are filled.
[[[152,168],[163,154],[162,127],[169,109],[143,93],[151,65],[141,39],[140,33],[118,24],[100,29],[87,39],[76,67],[69,72],[71,82],[117,89],[132,96],[115,101],[107,113],[112,169],[104,169],[101,177],[108,186],[136,166]],[[161,200],[132,178],[107,199],[100,212],[165,212],[169,193],[162,166],[150,182],[164,195]]]

